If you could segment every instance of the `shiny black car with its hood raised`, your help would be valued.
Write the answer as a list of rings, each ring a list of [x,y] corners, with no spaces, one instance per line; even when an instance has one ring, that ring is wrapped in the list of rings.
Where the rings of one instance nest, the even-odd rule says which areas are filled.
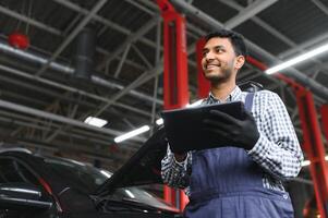
[[[0,152],[1,218],[180,217],[134,185],[158,183],[166,146],[159,132],[116,173],[24,150]]]

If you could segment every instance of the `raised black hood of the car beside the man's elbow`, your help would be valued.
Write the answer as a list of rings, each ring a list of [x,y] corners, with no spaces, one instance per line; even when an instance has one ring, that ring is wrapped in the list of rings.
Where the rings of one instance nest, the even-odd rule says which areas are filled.
[[[96,195],[108,195],[118,187],[150,183],[162,183],[160,161],[167,153],[165,129],[156,131],[150,138],[116,171],[99,189]]]

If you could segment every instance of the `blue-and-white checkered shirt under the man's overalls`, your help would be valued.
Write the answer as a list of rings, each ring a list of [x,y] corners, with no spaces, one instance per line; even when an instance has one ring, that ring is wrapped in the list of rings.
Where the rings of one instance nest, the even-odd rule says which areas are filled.
[[[246,95],[247,93],[236,86],[224,101],[245,101]],[[220,102],[211,94],[202,100],[202,105]],[[256,121],[259,138],[254,147],[247,150],[247,155],[264,170],[264,187],[284,191],[282,181],[296,177],[303,160],[291,119],[280,97],[269,90],[255,93],[252,114]],[[167,155],[161,160],[163,182],[172,187],[185,189],[187,195],[192,153],[187,153],[184,161],[178,162],[168,146]]]

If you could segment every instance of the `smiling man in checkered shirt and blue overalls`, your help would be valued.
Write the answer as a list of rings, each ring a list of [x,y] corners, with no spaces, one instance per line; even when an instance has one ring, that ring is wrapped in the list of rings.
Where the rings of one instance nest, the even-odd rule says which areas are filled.
[[[203,105],[241,100],[248,112],[238,120],[214,110],[211,119],[204,120],[226,146],[186,154],[173,154],[168,146],[162,179],[170,186],[187,187],[185,217],[293,217],[282,181],[297,175],[303,155],[279,96],[236,86],[245,56],[241,35],[222,29],[206,36],[202,65],[211,86]]]

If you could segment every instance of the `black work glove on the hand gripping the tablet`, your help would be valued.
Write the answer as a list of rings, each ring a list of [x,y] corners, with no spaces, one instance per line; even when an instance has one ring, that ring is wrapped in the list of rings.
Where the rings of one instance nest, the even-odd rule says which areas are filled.
[[[205,131],[208,131],[219,145],[250,150],[258,141],[259,133],[250,112],[245,111],[242,120],[218,110],[210,110],[209,113],[209,118],[204,120]]]

